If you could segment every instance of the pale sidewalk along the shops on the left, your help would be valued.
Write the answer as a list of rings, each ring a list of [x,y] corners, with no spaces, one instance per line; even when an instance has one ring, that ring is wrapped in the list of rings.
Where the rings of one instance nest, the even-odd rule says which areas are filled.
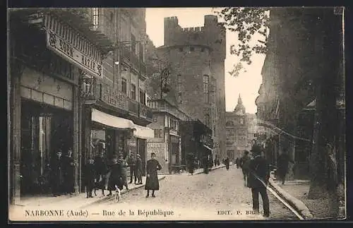
[[[162,180],[164,179],[164,175],[159,175],[158,179]],[[129,179],[128,179],[129,181]],[[143,184],[136,185],[136,184],[128,184],[128,190],[124,188],[121,191],[121,194],[127,193],[128,191],[133,191],[137,188],[142,188],[145,186],[145,181],[146,177],[142,177]],[[33,207],[45,207],[45,208],[52,208],[52,207],[57,207],[61,208],[66,208],[67,205],[70,205],[71,208],[85,208],[88,205],[91,205],[93,203],[100,203],[104,200],[109,199],[107,197],[107,194],[109,191],[105,190],[104,195],[102,196],[102,191],[101,190],[96,190],[97,196],[93,193],[93,198],[86,198],[87,193],[73,193],[71,196],[66,195],[66,196],[58,196],[58,197],[53,197],[51,195],[47,196],[30,196],[26,198],[21,199],[20,205],[15,205],[15,207],[24,207],[24,208],[33,208]]]

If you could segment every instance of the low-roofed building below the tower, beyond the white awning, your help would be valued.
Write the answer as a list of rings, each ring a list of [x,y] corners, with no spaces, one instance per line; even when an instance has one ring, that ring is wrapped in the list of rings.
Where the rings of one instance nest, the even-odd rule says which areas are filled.
[[[155,152],[162,165],[161,173],[179,172],[185,164],[179,123],[191,117],[164,99],[148,100],[148,106],[153,112],[153,122],[148,127],[155,131],[155,137],[148,139],[148,157]]]

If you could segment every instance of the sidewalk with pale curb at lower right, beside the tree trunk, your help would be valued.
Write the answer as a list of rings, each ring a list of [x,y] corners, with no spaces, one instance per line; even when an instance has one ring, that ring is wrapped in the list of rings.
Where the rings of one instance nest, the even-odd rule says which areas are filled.
[[[315,200],[308,198],[309,180],[286,181],[282,185],[281,181],[270,179],[270,186],[273,186],[273,190],[297,210],[305,220],[320,220],[330,216],[328,198]]]

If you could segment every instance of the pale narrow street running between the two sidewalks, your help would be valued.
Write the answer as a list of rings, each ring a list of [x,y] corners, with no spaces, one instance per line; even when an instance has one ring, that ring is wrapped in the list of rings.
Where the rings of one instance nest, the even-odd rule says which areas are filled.
[[[268,193],[271,211],[269,220],[297,220],[285,205]],[[209,174],[167,176],[160,181],[160,191],[156,192],[156,198],[145,198],[145,194],[144,189],[140,188],[122,195],[121,203],[109,200],[100,205],[92,205],[90,211],[100,213],[100,216],[102,210],[106,210],[106,215],[111,210],[115,213],[123,210],[127,215],[128,210],[134,210],[135,216],[138,210],[141,210],[140,213],[143,210],[158,209],[174,212],[173,216],[167,217],[139,215],[145,216],[140,217],[143,220],[265,220],[262,215],[251,215],[250,188],[243,185],[241,169],[234,166],[229,171],[222,168]],[[124,220],[129,217],[124,216]],[[116,216],[114,218],[119,219]]]

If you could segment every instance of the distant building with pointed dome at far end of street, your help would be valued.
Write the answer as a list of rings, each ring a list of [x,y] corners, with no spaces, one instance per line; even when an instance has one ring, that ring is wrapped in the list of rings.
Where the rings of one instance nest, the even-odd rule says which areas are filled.
[[[241,157],[245,150],[249,150],[249,114],[239,95],[238,104],[233,112],[226,112],[227,156],[230,160]]]

